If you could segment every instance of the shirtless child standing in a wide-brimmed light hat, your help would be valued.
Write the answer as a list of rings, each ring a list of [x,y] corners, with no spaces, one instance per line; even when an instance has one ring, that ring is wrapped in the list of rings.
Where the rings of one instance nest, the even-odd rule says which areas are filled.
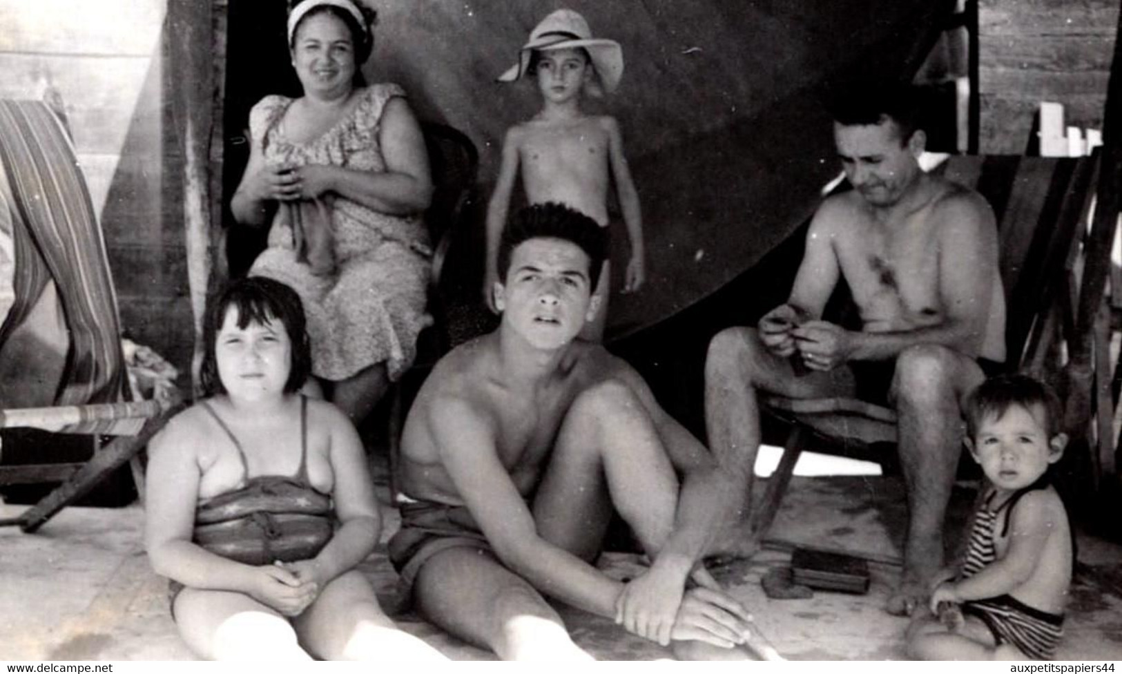
[[[487,205],[484,298],[491,311],[497,311],[494,289],[499,234],[519,169],[527,203],[563,203],[604,228],[608,227],[608,188],[614,182],[631,242],[624,293],[643,285],[643,216],[624,157],[619,124],[615,118],[589,116],[580,108],[586,92],[603,95],[615,91],[623,70],[618,43],[592,38],[583,17],[571,9],[559,9],[530,34],[518,64],[499,76],[503,82],[524,75],[535,77],[542,109],[533,119],[511,127],[503,141],[499,175]],[[604,335],[609,276],[605,262],[595,290],[601,298],[600,311],[581,332],[585,339],[600,341]]]

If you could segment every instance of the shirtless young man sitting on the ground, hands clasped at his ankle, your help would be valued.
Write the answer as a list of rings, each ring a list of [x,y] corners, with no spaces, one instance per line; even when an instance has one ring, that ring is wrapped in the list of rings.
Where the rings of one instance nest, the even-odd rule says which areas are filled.
[[[406,419],[390,561],[426,619],[505,659],[588,657],[543,595],[679,655],[743,657],[751,617],[698,564],[738,486],[631,367],[574,339],[605,252],[567,206],[515,214],[499,327],[445,356]],[[613,508],[653,560],[626,584],[592,565]]]

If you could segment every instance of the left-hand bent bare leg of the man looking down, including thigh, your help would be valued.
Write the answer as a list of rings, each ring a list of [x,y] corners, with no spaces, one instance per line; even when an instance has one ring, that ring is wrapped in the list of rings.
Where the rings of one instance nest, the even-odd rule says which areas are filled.
[[[755,329],[729,327],[709,342],[705,380],[709,449],[725,470],[734,471],[744,484],[739,521],[729,523],[730,535],[721,537],[728,547],[719,552],[751,556],[757,545],[756,533],[749,528],[753,470],[760,451],[757,391],[792,398],[844,394],[853,390],[853,376],[842,368],[797,377],[790,360],[767,351]]]

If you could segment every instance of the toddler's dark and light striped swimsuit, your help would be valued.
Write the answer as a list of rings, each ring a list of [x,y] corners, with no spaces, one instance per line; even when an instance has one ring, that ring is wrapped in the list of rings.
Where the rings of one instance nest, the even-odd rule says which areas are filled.
[[[1017,501],[1029,491],[1045,489],[1048,484],[1047,476],[1041,476],[1032,484],[1013,493],[995,510],[990,509],[994,497],[994,495],[990,495],[975,515],[966,558],[963,562],[963,578],[969,578],[996,561],[994,528],[1002,511],[1006,511],[1005,523],[1001,532],[1001,535],[1004,536],[1009,532],[1009,514],[1013,511]],[[985,622],[999,645],[1012,644],[1033,659],[1051,658],[1056,653],[1060,637],[1064,636],[1063,615],[1034,609],[1009,594],[967,601],[963,604],[963,613],[976,616]]]

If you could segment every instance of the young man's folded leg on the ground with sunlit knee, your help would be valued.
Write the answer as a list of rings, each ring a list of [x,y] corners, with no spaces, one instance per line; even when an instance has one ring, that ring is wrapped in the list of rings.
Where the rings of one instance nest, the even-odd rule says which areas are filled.
[[[417,573],[414,597],[426,620],[503,659],[592,659],[537,590],[478,548],[433,555]]]

